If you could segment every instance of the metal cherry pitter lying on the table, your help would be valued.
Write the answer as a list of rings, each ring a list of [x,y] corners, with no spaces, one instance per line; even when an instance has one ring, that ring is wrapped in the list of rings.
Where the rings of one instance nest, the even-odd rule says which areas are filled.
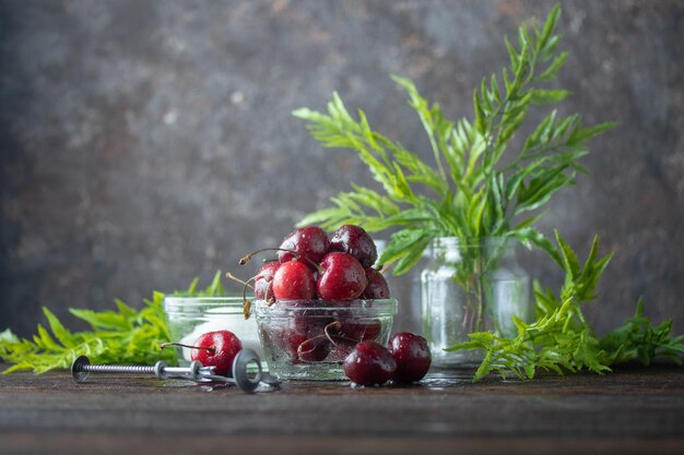
[[[247,371],[247,367],[251,363],[257,366],[256,374],[250,374]],[[233,378],[215,374],[214,367],[204,367],[197,360],[191,362],[189,367],[168,367],[162,360],[154,366],[92,364],[87,356],[81,356],[71,364],[71,376],[78,383],[85,382],[90,373],[154,375],[161,380],[179,379],[200,384],[235,384],[247,394],[255,393],[261,383],[270,386],[280,384],[275,376],[262,371],[259,356],[248,348],[241,349],[235,356],[233,360]]]

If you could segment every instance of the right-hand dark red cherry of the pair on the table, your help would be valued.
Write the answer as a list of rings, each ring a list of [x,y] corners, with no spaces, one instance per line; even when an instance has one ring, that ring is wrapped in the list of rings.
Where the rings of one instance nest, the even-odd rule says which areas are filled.
[[[389,351],[397,360],[396,382],[416,382],[422,380],[432,362],[427,340],[410,332],[394,334],[389,340]]]

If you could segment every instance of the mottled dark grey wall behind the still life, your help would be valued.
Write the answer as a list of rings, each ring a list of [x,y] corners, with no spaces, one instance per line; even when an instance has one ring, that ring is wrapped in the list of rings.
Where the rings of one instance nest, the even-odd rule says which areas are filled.
[[[208,280],[350,181],[373,185],[290,115],[334,89],[428,158],[388,75],[471,116],[472,88],[507,62],[503,35],[551,5],[0,1],[0,330],[33,333],[43,304],[66,316]],[[644,296],[684,332],[684,2],[563,5],[562,111],[621,127],[542,228],[580,251],[598,232],[615,253],[590,311],[601,331]],[[550,262],[531,268],[557,280]]]

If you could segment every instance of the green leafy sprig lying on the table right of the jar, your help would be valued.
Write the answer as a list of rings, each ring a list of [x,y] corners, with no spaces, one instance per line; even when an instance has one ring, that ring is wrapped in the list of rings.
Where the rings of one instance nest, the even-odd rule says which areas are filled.
[[[681,363],[684,336],[672,337],[672,322],[653,327],[642,315],[639,301],[634,318],[599,338],[582,313],[582,304],[593,300],[595,286],[611,256],[598,258],[598,238],[583,265],[567,242],[556,232],[556,253],[562,260],[565,282],[558,296],[535,283],[536,320],[526,323],[514,316],[518,335],[512,338],[492,332],[469,334],[469,342],[447,350],[484,351],[484,359],[473,381],[491,372],[502,376],[532,379],[539,370],[557,374],[581,370],[594,373],[611,371],[611,366],[639,359],[649,364],[657,357]]]

